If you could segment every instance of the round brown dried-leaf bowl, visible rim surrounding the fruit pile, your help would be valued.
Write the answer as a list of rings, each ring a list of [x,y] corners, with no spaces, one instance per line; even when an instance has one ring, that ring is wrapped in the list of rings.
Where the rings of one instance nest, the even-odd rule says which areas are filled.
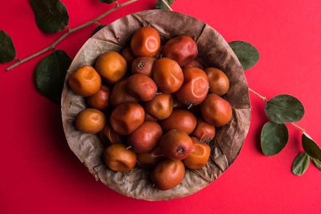
[[[159,32],[163,44],[178,35],[195,38],[198,57],[205,66],[224,71],[230,80],[230,89],[223,97],[230,102],[233,116],[228,124],[217,127],[215,138],[210,142],[211,156],[207,165],[198,170],[187,169],[183,182],[166,191],[152,186],[148,169],[135,167],[125,173],[110,170],[104,163],[105,147],[98,135],[83,134],[75,128],[74,119],[77,113],[88,106],[84,97],[70,89],[70,72],[66,75],[62,93],[62,120],[70,149],[96,180],[131,198],[148,201],[171,200],[203,189],[234,162],[249,130],[251,104],[242,65],[222,35],[196,18],[173,11],[147,10],[117,19],[87,40],[76,54],[70,70],[76,70],[83,65],[93,66],[99,55],[111,50],[119,52],[128,47],[133,33],[139,27],[148,25]]]

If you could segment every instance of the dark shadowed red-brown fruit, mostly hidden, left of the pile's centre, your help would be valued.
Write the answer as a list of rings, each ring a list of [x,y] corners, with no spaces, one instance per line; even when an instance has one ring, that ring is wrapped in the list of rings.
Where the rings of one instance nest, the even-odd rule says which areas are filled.
[[[125,102],[138,102],[139,100],[127,92],[127,79],[123,79],[114,84],[110,95],[110,105],[115,108]]]

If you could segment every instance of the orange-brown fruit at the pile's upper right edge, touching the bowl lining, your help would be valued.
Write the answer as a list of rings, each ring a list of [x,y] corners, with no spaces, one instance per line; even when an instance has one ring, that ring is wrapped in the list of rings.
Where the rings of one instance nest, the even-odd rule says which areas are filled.
[[[228,92],[230,89],[230,80],[223,71],[209,67],[206,68],[204,72],[208,76],[210,83],[209,93],[215,93],[218,96],[222,96]]]

